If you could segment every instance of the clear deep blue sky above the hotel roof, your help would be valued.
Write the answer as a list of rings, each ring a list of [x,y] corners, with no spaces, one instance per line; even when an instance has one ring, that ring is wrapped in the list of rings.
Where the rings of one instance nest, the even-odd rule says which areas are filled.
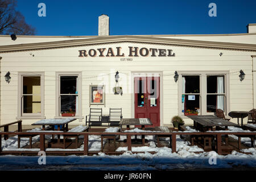
[[[36,35],[98,35],[98,16],[110,17],[110,35],[238,34],[256,23],[255,0],[17,0]],[[46,17],[38,4],[46,4]],[[217,16],[210,17],[209,3]]]

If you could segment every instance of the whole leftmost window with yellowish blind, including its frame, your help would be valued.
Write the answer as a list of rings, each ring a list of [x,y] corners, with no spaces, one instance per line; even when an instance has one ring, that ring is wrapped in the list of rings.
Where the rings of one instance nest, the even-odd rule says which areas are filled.
[[[44,118],[44,80],[43,73],[31,75],[19,73],[19,118]]]

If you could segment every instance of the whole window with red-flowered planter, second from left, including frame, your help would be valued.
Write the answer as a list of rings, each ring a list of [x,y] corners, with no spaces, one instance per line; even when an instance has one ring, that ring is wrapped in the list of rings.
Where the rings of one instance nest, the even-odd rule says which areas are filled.
[[[56,117],[81,117],[81,73],[56,73]]]

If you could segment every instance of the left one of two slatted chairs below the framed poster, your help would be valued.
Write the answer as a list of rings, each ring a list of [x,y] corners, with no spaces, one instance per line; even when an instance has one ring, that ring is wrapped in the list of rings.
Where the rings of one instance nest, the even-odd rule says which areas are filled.
[[[86,115],[85,125],[87,123],[89,123],[89,128],[91,126],[102,126],[102,108],[90,108],[90,114]]]

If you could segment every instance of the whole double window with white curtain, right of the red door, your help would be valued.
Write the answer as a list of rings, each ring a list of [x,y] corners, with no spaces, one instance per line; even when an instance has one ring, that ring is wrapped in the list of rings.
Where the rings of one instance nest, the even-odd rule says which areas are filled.
[[[179,115],[212,115],[216,109],[228,113],[228,72],[188,72],[180,75]]]

